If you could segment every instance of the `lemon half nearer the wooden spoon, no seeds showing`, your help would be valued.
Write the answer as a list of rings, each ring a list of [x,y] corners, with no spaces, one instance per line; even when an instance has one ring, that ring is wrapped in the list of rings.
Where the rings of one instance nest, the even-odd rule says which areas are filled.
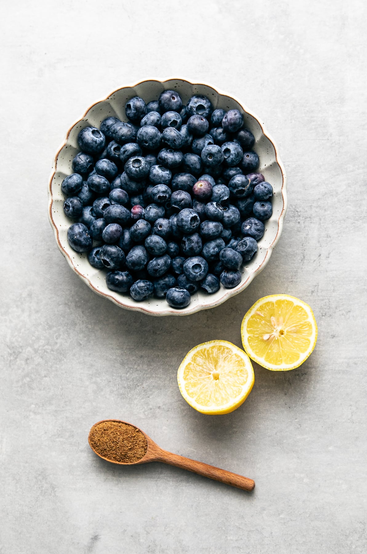
[[[180,393],[195,410],[226,414],[241,406],[254,385],[249,356],[227,341],[195,346],[177,372]]]

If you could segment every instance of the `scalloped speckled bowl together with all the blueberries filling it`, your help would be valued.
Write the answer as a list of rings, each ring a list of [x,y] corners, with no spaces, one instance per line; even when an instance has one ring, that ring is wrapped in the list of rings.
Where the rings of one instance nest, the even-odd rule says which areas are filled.
[[[128,310],[184,315],[240,293],[266,265],[287,208],[263,124],[232,96],[146,80],[68,131],[49,219],[70,267]]]

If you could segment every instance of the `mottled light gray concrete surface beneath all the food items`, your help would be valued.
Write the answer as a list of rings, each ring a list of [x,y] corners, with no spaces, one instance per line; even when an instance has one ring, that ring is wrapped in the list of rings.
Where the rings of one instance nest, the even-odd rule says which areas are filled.
[[[365,3],[20,0],[2,14],[0,552],[365,552]],[[46,186],[87,106],[174,74],[218,85],[266,122],[289,209],[244,293],[154,319],[73,274]],[[176,382],[185,353],[214,338],[240,345],[245,311],[278,292],[313,307],[312,356],[285,374],[255,366],[234,413],[195,412]],[[254,478],[254,494],[169,466],[102,463],[87,433],[108,417]]]

